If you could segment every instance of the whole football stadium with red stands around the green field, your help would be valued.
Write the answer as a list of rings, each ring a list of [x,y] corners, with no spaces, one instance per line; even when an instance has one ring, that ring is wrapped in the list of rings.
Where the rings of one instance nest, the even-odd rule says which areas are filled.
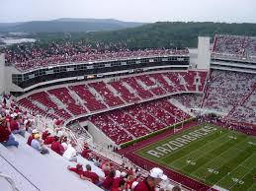
[[[0,144],[4,191],[106,188],[66,169],[77,163],[100,179],[110,166],[143,178],[159,167],[163,190],[256,190],[256,37],[199,36],[195,49],[48,46],[1,49],[1,123],[26,129],[13,136],[18,149]],[[67,139],[76,162],[52,145],[35,151],[35,130]]]

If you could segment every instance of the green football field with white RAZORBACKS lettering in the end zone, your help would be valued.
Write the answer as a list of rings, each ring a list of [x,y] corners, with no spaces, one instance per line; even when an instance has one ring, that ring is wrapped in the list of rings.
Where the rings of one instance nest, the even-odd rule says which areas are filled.
[[[252,136],[202,124],[136,154],[211,186],[256,191],[256,138]]]

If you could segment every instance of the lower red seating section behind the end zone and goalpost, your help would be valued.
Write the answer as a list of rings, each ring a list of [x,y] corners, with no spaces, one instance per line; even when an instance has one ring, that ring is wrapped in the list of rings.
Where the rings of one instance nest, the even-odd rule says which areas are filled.
[[[162,98],[93,115],[89,120],[119,145],[189,117],[189,114]]]

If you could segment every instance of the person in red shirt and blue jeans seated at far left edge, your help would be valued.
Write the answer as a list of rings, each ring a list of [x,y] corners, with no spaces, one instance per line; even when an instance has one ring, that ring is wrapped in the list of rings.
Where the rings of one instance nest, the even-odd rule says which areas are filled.
[[[18,148],[19,143],[15,141],[15,138],[11,134],[10,128],[8,128],[8,121],[4,118],[0,121],[0,143],[5,147],[15,146]]]

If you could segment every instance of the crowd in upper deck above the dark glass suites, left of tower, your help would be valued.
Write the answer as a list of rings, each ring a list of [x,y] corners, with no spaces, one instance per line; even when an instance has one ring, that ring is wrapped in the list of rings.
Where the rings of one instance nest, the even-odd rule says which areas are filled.
[[[88,62],[95,60],[108,60],[129,57],[157,56],[169,54],[188,54],[187,49],[145,49],[129,50],[117,46],[92,47],[80,41],[51,42],[48,44],[24,43],[3,48],[6,62],[14,64],[20,70],[28,70],[37,67],[45,67],[54,64],[70,62]]]

